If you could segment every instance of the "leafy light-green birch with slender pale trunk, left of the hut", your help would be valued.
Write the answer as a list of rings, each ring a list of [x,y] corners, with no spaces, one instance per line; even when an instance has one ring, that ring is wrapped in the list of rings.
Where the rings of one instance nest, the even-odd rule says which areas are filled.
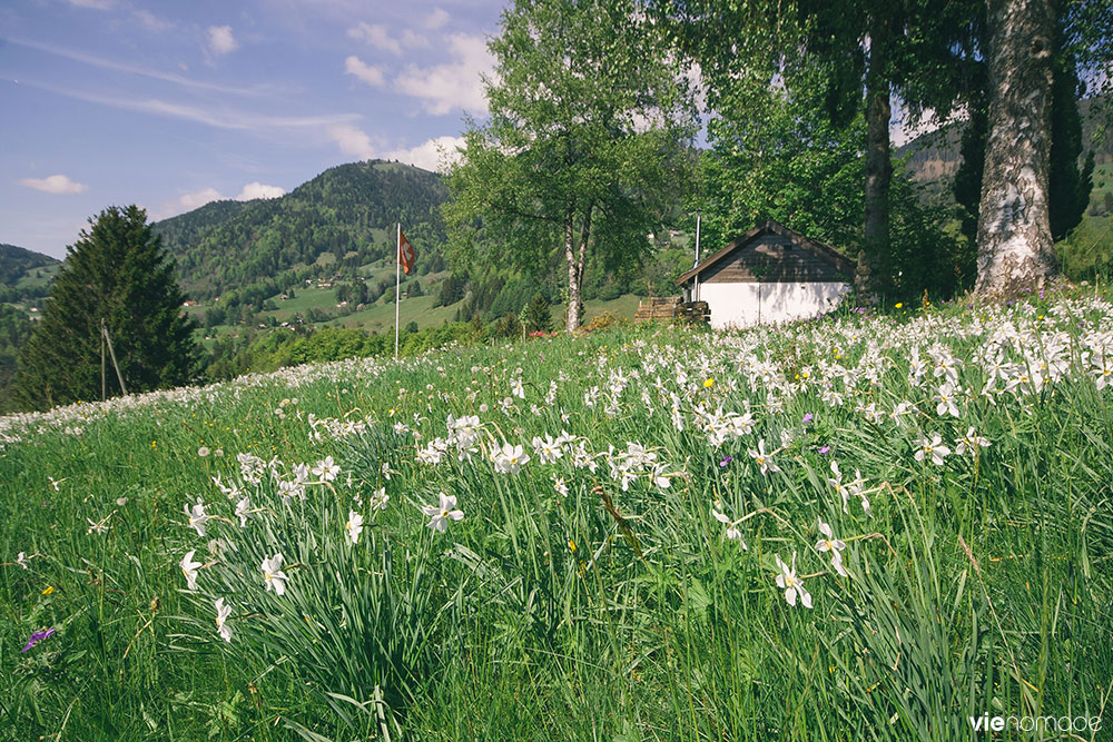
[[[684,88],[631,0],[518,0],[490,49],[490,116],[449,174],[450,249],[533,273],[560,260],[573,332],[589,257],[639,260],[682,195]]]

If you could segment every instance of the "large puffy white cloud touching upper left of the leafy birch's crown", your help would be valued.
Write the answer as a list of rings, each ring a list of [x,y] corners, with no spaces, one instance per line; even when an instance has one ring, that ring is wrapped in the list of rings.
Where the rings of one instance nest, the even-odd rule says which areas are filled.
[[[430,68],[410,66],[396,80],[401,92],[423,100],[422,107],[433,116],[443,116],[454,108],[472,112],[486,110],[483,75],[494,70],[494,57],[480,36],[454,33],[449,49],[455,61]]]

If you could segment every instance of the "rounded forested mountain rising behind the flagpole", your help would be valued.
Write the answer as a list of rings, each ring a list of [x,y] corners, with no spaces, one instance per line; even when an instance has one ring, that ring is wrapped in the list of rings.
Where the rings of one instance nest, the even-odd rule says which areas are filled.
[[[358,265],[387,257],[401,220],[423,246],[444,241],[441,177],[378,160],[342,165],[280,198],[217,201],[159,221],[194,299],[260,283],[293,286],[325,254]]]

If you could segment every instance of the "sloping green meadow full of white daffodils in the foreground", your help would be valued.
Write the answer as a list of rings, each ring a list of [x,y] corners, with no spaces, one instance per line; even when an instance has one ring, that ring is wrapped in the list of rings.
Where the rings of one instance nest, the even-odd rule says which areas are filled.
[[[1111,382],[1089,289],[0,418],[0,739],[1109,740]]]

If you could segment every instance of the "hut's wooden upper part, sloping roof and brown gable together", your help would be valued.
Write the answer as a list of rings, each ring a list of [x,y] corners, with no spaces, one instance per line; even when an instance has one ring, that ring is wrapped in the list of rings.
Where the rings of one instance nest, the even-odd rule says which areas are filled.
[[[792,258],[792,265],[788,265],[784,251],[778,254],[767,249],[769,237],[775,237],[774,241],[777,245],[798,251]],[[747,250],[747,248],[752,249]],[[758,265],[765,270],[747,269]],[[812,268],[808,269],[807,266]],[[833,278],[836,275],[845,276],[844,280],[850,280],[854,270],[854,260],[834,247],[767,219],[681,275],[677,279],[677,285],[687,284],[697,276],[701,283],[716,278],[727,280],[728,276],[736,273],[739,274],[737,280],[750,281],[816,280]]]

